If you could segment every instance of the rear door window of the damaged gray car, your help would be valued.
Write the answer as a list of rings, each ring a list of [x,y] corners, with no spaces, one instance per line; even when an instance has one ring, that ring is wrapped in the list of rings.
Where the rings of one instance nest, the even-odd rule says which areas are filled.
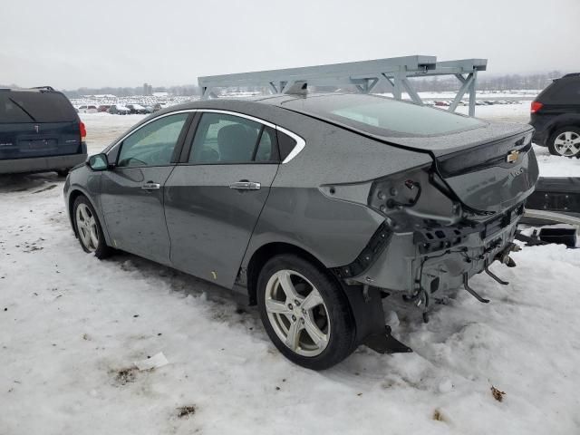
[[[204,113],[193,139],[189,163],[220,164],[275,161],[275,131],[225,113]]]

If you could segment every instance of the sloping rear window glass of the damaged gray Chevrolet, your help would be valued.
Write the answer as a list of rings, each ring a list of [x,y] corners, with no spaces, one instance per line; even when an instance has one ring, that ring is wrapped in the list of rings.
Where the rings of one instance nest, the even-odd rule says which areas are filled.
[[[387,137],[442,135],[484,125],[482,121],[467,116],[377,95],[313,96],[284,102],[283,105]]]

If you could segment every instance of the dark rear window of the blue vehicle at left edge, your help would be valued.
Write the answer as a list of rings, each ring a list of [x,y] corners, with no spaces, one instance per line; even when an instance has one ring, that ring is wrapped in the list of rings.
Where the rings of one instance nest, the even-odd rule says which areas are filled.
[[[59,92],[1,92],[0,122],[75,121],[76,111]]]

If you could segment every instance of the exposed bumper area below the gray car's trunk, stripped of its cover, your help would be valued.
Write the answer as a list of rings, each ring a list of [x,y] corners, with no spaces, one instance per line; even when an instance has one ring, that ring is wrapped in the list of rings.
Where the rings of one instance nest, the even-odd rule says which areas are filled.
[[[432,295],[457,289],[464,285],[466,275],[470,278],[485,271],[500,256],[507,264],[504,255],[512,245],[523,212],[520,204],[472,226],[393,232],[388,246],[372,265],[350,281],[408,296],[420,290]]]

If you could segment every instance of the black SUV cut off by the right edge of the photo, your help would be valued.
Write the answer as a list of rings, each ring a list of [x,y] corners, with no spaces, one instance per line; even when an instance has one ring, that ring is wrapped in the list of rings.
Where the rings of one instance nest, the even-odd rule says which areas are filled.
[[[556,156],[580,158],[580,73],[554,80],[532,102],[534,142]]]

